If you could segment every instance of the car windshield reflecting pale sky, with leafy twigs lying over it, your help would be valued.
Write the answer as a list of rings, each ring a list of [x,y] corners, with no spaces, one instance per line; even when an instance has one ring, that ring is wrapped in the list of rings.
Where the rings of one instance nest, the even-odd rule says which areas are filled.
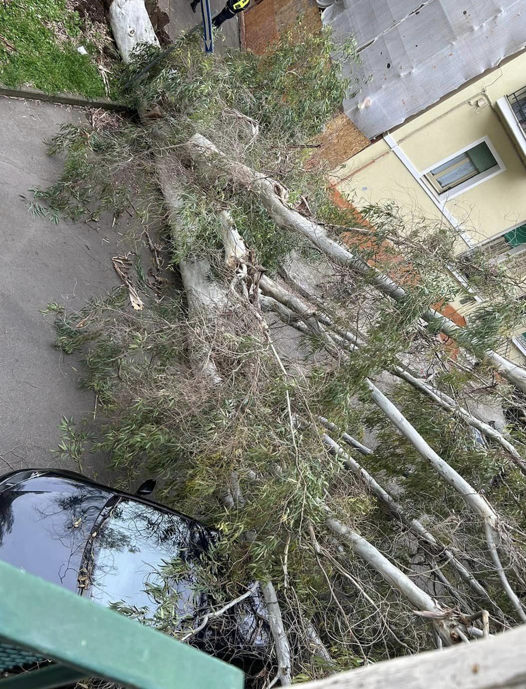
[[[152,587],[162,586],[159,570],[176,563],[180,576],[170,579],[171,602],[177,617],[193,619],[206,599],[198,590],[196,568],[209,544],[209,533],[196,522],[123,499],[109,509],[96,527],[85,591],[96,603],[145,608],[154,615],[158,602]],[[83,579],[83,575],[79,577]]]

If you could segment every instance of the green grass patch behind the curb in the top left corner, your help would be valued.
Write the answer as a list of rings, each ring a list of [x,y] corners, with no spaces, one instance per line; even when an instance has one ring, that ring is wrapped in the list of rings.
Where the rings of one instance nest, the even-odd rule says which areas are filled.
[[[79,45],[87,55],[77,51]],[[66,0],[0,1],[0,82],[4,85],[30,85],[50,94],[105,96],[97,53],[98,47],[87,40],[81,18],[67,8]]]

